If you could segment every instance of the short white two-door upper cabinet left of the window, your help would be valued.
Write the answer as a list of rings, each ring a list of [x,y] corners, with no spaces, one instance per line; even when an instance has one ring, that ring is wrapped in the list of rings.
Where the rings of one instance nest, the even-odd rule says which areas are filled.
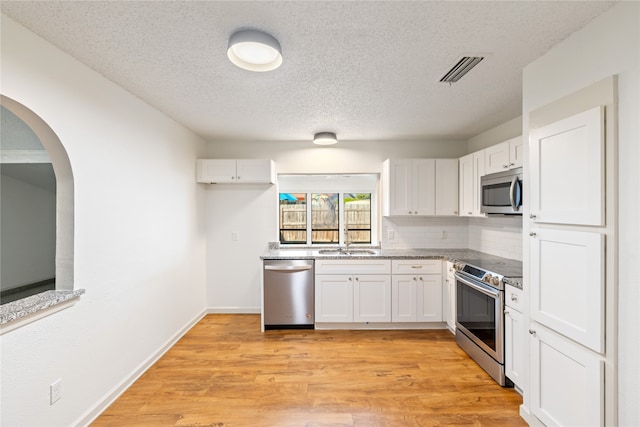
[[[274,184],[273,160],[198,159],[197,181],[206,184]]]

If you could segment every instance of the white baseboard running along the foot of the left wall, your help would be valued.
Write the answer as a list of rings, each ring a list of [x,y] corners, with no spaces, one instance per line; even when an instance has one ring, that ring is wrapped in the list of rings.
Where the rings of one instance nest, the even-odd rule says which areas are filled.
[[[72,425],[74,426],[88,426],[102,414],[115,400],[122,395],[138,378],[144,374],[154,363],[156,363],[171,347],[175,345],[180,338],[184,336],[196,323],[198,323],[205,315],[206,310],[202,310],[193,319],[187,322],[178,332],[176,332],[171,338],[169,338],[158,350],[156,350],[151,356],[149,356],[144,362],[140,364],[136,369],[131,372],[120,384],[116,385],[110,392],[108,392],[99,402],[97,402],[92,408],[87,410],[78,420]]]

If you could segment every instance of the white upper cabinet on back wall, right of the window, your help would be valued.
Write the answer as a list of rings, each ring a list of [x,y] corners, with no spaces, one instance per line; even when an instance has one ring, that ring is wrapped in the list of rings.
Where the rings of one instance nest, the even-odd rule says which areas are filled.
[[[457,215],[457,159],[393,159],[382,168],[384,216]]]

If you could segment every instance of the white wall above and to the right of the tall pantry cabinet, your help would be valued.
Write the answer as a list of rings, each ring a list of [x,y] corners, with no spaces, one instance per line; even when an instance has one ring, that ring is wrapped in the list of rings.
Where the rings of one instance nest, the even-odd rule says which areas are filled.
[[[618,75],[617,381],[620,426],[640,425],[639,28],[640,3],[620,2],[527,66],[523,76],[523,126],[526,130],[530,111],[608,76]]]

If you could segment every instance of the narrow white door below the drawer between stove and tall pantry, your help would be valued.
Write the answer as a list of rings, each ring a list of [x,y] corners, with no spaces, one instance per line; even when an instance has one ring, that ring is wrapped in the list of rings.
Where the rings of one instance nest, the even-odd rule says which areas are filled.
[[[524,351],[525,339],[524,316],[518,310],[507,307],[504,311],[504,365],[505,375],[515,385],[524,390]]]

